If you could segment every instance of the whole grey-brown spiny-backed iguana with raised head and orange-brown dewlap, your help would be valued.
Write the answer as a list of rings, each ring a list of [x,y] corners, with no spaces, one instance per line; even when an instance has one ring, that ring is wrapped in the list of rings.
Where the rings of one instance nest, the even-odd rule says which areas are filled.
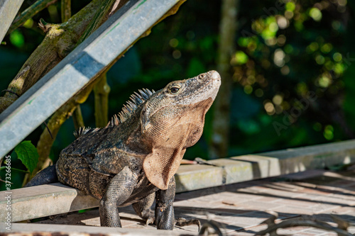
[[[173,230],[174,174],[202,135],[221,78],[210,71],[131,95],[105,128],[80,128],[55,166],[26,186],[57,180],[99,199],[102,226],[121,227],[118,207],[133,206],[147,223]],[[155,198],[155,214],[151,210]]]

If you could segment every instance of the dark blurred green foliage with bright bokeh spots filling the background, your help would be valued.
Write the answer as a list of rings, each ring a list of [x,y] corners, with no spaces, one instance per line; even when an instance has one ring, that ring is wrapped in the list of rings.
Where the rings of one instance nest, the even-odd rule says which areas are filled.
[[[72,1],[72,12],[88,2]],[[139,40],[111,68],[107,74],[109,116],[118,113],[137,89],[158,90],[172,80],[217,69],[220,4],[186,1],[176,15],[155,26],[151,35]],[[240,1],[236,48],[231,55],[230,156],[354,137],[354,10],[355,2],[346,0]],[[43,40],[39,18],[59,23],[59,12],[60,2],[4,39],[2,89]],[[93,107],[91,95],[82,105],[85,125],[94,126]],[[207,158],[211,116],[212,112],[207,113],[204,135],[185,158]],[[26,140],[36,144],[43,129],[41,125]],[[74,140],[73,130],[69,119],[53,145],[53,161]],[[26,169],[16,160],[12,164]],[[16,172],[13,182],[22,177]]]

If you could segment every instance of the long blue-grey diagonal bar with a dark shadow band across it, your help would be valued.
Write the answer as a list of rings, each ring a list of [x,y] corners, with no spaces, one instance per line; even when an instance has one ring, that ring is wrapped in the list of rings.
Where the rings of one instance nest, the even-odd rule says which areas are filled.
[[[180,0],[181,1],[181,0]],[[0,114],[0,157],[52,115],[179,0],[131,0]]]

